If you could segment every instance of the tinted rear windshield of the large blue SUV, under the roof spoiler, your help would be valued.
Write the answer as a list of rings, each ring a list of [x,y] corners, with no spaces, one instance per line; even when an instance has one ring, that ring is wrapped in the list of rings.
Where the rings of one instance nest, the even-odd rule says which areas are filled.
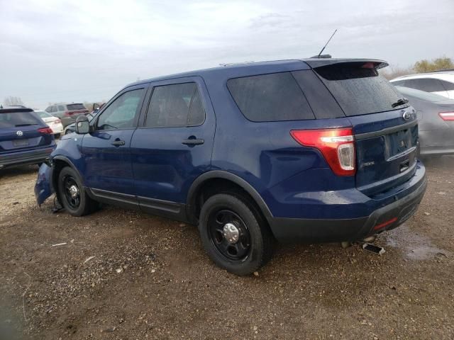
[[[393,103],[402,98],[402,94],[369,63],[331,64],[314,70],[336,98],[345,115],[367,115],[408,106],[404,104],[392,107]]]

